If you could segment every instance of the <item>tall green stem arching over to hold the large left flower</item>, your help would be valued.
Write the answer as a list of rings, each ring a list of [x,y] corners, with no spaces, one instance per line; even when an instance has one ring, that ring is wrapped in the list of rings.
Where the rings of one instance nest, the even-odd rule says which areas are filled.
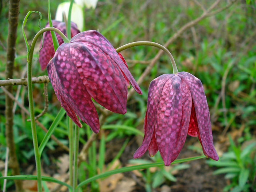
[[[30,119],[31,119],[31,130],[32,130],[32,138],[33,145],[35,150],[35,161],[36,161],[36,172],[37,172],[37,182],[38,182],[38,192],[42,192],[42,175],[41,175],[41,161],[40,161],[40,153],[38,148],[38,140],[36,136],[36,126],[35,126],[35,114],[34,114],[34,103],[33,103],[33,95],[32,95],[32,59],[36,41],[45,31],[55,31],[63,38],[64,42],[69,42],[66,36],[57,28],[54,27],[46,27],[42,30],[38,31],[32,40],[31,47],[28,55],[28,102],[29,102],[29,110],[30,110]]]

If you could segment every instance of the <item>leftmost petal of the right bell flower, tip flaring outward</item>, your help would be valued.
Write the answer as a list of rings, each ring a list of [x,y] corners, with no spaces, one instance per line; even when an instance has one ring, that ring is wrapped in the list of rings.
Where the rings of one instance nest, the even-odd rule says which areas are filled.
[[[162,93],[164,84],[173,76],[174,74],[164,74],[154,79],[150,83],[148,88],[147,119],[145,118],[146,124],[144,124],[145,136],[141,146],[134,153],[133,158],[139,158],[143,156],[150,145],[155,130],[155,120],[159,98]]]

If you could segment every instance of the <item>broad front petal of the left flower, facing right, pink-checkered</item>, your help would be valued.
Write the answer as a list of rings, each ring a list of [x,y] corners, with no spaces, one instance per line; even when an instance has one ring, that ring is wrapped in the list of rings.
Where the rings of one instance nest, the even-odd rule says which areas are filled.
[[[115,62],[90,43],[70,43],[70,54],[90,96],[115,113],[126,113],[127,87]]]

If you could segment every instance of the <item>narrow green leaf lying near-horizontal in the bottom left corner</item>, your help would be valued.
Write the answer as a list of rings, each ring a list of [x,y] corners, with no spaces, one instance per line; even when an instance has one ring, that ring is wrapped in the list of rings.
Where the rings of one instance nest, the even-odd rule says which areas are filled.
[[[1,179],[9,179],[9,180],[37,180],[37,176],[36,175],[15,175],[15,176],[0,177],[0,180]],[[69,189],[72,189],[72,187],[69,184],[67,184],[65,182],[62,182],[62,181],[60,181],[58,179],[55,179],[53,177],[42,176],[42,180],[43,181],[53,182],[53,183],[58,183],[58,184],[61,184],[61,185],[65,185]]]

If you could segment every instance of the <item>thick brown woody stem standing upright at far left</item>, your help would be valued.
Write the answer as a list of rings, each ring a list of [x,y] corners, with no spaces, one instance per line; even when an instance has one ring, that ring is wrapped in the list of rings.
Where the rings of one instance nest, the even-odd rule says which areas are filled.
[[[15,58],[15,46],[17,38],[17,26],[19,16],[19,0],[9,0],[9,23],[7,36],[7,62],[6,62],[6,79],[13,78],[13,66]],[[12,86],[6,86],[7,91],[12,93]],[[20,175],[19,162],[16,156],[15,143],[13,139],[13,101],[5,94],[5,135],[6,144],[9,148],[9,166],[12,168],[13,175]],[[22,181],[15,180],[16,191],[23,191]]]

